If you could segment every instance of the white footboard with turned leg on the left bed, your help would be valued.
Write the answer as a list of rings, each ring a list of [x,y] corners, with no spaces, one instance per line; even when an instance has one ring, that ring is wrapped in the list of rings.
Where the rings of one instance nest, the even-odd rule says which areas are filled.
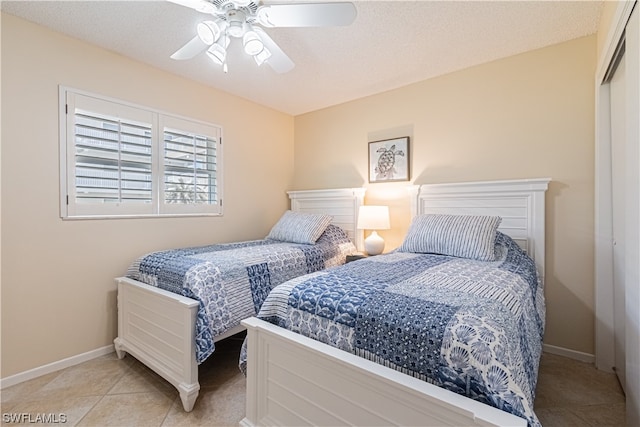
[[[195,357],[198,302],[121,277],[118,283],[116,353],[126,353],[169,381],[184,410],[193,409],[200,390]]]

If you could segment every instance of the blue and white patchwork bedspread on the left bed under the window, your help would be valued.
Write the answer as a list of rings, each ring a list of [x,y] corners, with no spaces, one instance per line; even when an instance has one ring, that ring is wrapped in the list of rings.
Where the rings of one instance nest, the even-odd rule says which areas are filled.
[[[199,301],[196,360],[214,349],[214,338],[255,316],[271,289],[294,277],[344,264],[355,246],[329,225],[316,244],[254,240],[173,249],[137,259],[127,277]]]

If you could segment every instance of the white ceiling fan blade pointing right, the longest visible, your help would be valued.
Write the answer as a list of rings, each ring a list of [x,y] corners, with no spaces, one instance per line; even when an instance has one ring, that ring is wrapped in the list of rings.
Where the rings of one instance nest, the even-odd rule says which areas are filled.
[[[261,6],[258,21],[265,27],[330,27],[356,19],[353,3],[293,3]]]

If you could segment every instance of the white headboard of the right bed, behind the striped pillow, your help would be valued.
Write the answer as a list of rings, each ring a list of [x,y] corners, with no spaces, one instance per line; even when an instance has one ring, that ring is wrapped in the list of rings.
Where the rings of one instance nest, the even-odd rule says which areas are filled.
[[[498,215],[498,230],[536,262],[544,277],[545,191],[550,178],[414,186],[412,214]]]

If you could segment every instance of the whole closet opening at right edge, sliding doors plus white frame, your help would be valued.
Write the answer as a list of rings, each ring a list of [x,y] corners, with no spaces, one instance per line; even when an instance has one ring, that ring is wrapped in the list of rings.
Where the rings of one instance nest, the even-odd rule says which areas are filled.
[[[596,366],[615,367],[629,426],[640,426],[639,9],[617,2],[596,74]]]

